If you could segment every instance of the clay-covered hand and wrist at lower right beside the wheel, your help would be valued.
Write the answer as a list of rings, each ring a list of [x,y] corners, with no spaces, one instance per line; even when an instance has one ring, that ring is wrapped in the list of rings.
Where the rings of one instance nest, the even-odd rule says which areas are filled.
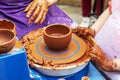
[[[89,52],[89,56],[99,68],[106,71],[120,71],[120,60],[108,59],[98,45],[94,45],[92,47],[92,50]]]

